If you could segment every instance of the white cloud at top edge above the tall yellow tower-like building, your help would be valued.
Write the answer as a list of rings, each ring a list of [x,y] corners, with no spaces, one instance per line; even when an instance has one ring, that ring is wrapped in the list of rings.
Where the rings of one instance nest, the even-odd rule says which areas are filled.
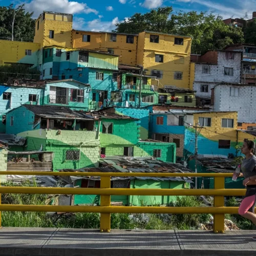
[[[78,3],[69,0],[32,0],[29,3],[24,2],[26,11],[34,12],[37,18],[43,11],[62,12],[62,13],[95,13],[98,11],[88,7],[86,3]],[[20,5],[20,4],[18,4]]]

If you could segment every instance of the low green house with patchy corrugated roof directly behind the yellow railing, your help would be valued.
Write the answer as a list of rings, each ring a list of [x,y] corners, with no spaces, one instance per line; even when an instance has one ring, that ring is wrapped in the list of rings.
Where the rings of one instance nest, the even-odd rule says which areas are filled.
[[[113,173],[190,173],[191,170],[182,164],[163,162],[148,157],[112,157],[100,160],[97,168],[82,168],[80,172],[113,172]],[[72,172],[72,169],[63,169]],[[77,171],[77,170],[76,170]],[[100,187],[100,177],[73,177],[74,186],[78,187]],[[166,188],[166,189],[189,189],[193,181],[187,177],[111,177],[112,188]],[[175,196],[111,196],[111,202],[132,206],[145,205],[168,205],[175,201]],[[75,195],[74,204],[96,204],[100,203],[99,195]]]

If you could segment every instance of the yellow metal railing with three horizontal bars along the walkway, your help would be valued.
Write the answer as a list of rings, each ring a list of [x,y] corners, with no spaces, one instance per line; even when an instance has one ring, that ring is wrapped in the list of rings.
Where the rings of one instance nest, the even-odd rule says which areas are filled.
[[[245,189],[225,189],[225,177],[232,174],[195,173],[48,173],[48,172],[0,172],[0,175],[44,175],[44,176],[100,176],[100,188],[63,187],[0,187],[1,211],[58,211],[99,212],[100,231],[110,232],[110,215],[113,213],[145,214],[213,214],[214,232],[224,233],[224,215],[238,214],[238,207],[224,207],[224,196],[243,196]],[[111,188],[111,177],[214,177],[214,189],[143,189]],[[1,193],[9,194],[58,194],[58,195],[100,195],[100,206],[54,206],[54,205],[12,205],[1,204]],[[214,196],[213,207],[154,207],[154,206],[111,206],[112,195],[136,196]]]

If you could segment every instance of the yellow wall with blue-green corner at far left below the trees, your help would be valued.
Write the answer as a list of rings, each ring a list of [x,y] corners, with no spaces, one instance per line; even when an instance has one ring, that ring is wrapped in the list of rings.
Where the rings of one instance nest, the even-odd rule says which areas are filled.
[[[0,40],[0,65],[8,63],[26,63],[37,65],[40,44]],[[32,55],[26,55],[26,50],[32,50]]]

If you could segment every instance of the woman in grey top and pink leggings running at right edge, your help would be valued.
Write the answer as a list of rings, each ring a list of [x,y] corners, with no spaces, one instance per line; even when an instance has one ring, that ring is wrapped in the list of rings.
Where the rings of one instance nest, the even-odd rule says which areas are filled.
[[[246,186],[246,194],[238,212],[241,216],[252,221],[253,224],[256,225],[256,215],[254,214],[254,207],[256,204],[255,143],[251,140],[245,141],[241,151],[245,155],[245,159],[241,164],[241,170],[244,176],[243,185]],[[256,237],[253,237],[252,239],[256,240]]]

